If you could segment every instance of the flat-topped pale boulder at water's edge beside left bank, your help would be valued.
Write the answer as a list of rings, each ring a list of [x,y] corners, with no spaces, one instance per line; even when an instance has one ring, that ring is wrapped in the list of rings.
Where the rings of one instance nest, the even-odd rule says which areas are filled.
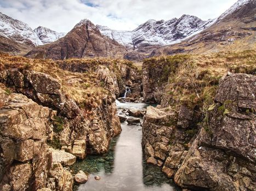
[[[70,166],[76,162],[76,157],[73,156],[73,154],[65,151],[55,150],[53,148],[50,148],[50,152],[52,152],[53,163],[60,163],[65,166]]]

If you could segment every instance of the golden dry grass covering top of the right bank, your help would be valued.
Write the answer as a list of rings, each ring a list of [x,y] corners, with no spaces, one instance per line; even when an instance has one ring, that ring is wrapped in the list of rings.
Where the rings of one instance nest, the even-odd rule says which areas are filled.
[[[227,71],[255,75],[256,51],[162,56],[146,59],[144,64],[153,68],[162,65],[161,83],[167,84],[162,105],[178,110],[181,104],[191,108],[211,104],[219,79]]]

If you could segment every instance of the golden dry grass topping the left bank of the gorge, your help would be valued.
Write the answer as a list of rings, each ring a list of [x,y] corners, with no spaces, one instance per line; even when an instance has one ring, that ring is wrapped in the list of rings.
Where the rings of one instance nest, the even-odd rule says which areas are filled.
[[[62,70],[60,64],[80,64],[89,68],[88,72],[76,73]],[[94,58],[94,59],[67,59],[65,61],[53,61],[52,59],[30,59],[20,56],[0,54],[0,70],[27,69],[40,71],[58,79],[62,85],[62,92],[67,98],[72,98],[82,107],[96,108],[101,104],[103,97],[109,94],[109,90],[102,86],[95,70],[98,65],[105,65],[115,73],[119,73],[120,65],[126,64],[134,67],[132,62],[118,59]]]

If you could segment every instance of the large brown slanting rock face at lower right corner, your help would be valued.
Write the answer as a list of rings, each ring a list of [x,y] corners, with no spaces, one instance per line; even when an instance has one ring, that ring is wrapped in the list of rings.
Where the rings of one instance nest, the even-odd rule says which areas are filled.
[[[224,77],[204,124],[174,180],[207,190],[255,189],[256,77]]]

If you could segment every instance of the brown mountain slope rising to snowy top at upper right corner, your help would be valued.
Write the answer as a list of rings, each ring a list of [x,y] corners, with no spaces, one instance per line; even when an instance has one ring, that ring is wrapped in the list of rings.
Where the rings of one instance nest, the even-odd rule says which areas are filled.
[[[243,51],[256,49],[256,1],[240,0],[225,11],[217,21],[201,33],[182,43],[163,46],[144,52],[159,56],[163,53],[209,53],[219,51]],[[132,52],[134,54],[134,52]],[[141,54],[141,52],[136,52]],[[138,57],[138,55],[137,55]],[[140,55],[140,57],[142,57]]]

